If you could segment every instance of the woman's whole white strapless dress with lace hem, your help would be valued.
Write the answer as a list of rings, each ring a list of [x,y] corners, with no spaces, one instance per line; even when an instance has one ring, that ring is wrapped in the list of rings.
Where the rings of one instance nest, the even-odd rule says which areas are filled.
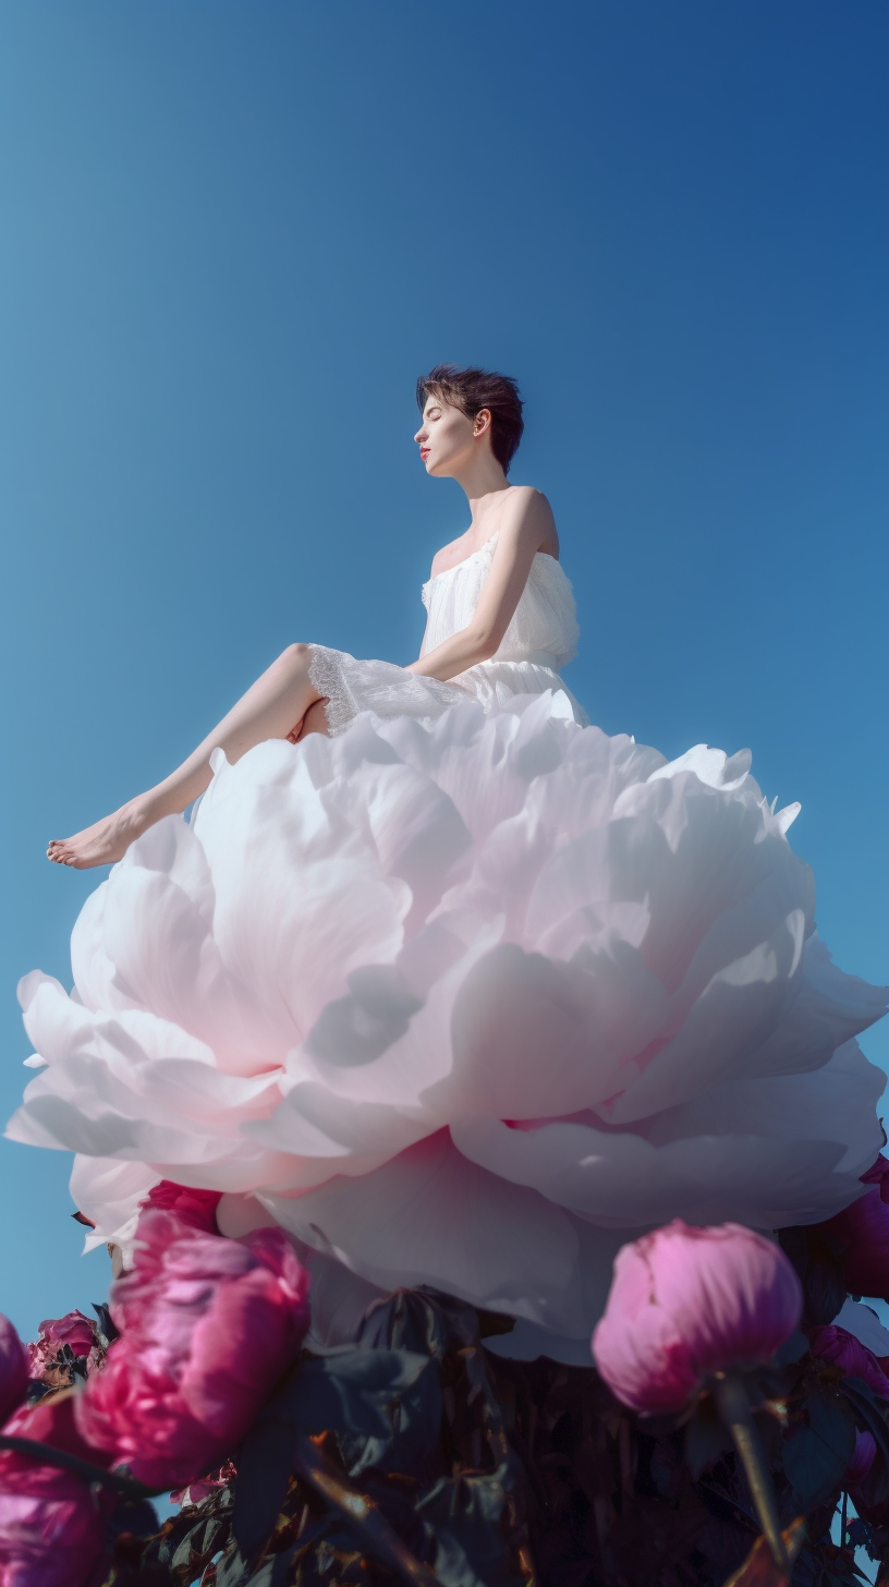
[[[422,586],[422,603],[429,616],[421,655],[471,622],[495,544],[497,535],[492,535],[464,562],[437,573]],[[559,676],[559,668],[576,654],[578,638],[570,579],[560,562],[538,552],[497,652],[451,682],[419,678],[391,662],[359,660],[324,644],[313,646],[310,676],[319,695],[327,700],[332,738],[343,733],[360,711],[373,711],[379,719],[411,716],[429,720],[467,694],[491,713],[506,706],[516,695],[552,690],[554,713],[587,725],[586,713]]]

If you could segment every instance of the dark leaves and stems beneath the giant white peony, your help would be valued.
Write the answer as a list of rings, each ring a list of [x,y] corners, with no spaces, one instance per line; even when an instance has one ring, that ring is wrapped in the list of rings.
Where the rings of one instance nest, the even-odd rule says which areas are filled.
[[[856,1546],[889,1562],[884,1401],[802,1336],[748,1392],[786,1536],[805,1516],[792,1587],[854,1587]],[[840,1547],[856,1430],[878,1455]],[[398,1292],[354,1347],[303,1354],[233,1458],[151,1536],[146,1506],[119,1511],[105,1587],[787,1582],[710,1397],[683,1425],[645,1422],[592,1368],[492,1355],[473,1308],[443,1295]]]

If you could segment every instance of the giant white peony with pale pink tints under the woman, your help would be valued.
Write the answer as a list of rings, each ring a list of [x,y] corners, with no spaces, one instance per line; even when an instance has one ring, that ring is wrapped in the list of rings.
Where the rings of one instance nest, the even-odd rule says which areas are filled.
[[[221,1189],[230,1233],[570,1357],[641,1228],[859,1192],[884,1003],[832,966],[746,755],[667,763],[543,695],[214,760],[84,906],[71,997],[21,987],[46,1068],[8,1133],[78,1152],[95,1239],[159,1178]]]

